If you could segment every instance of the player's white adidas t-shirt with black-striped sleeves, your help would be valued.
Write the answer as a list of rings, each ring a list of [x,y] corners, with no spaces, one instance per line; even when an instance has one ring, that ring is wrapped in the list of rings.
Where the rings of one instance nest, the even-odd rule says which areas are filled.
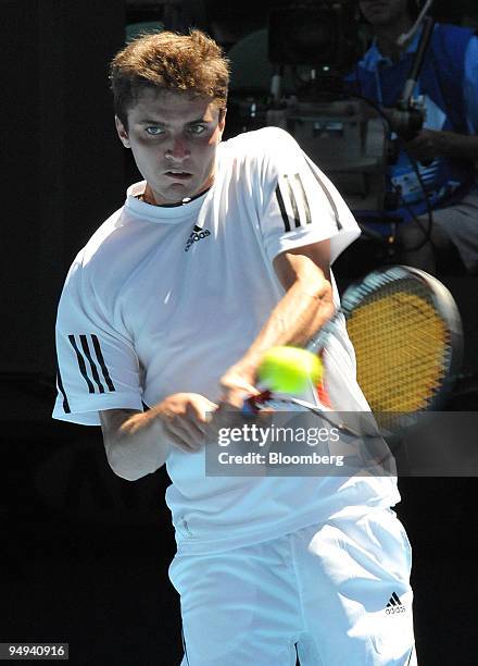
[[[334,261],[360,233],[334,185],[275,127],[221,144],[214,185],[189,203],[150,206],[137,198],[143,189],[128,189],[67,275],[54,418],[99,424],[103,409],[142,409],[178,392],[216,402],[219,378],[285,293],[273,259],[329,238]],[[324,361],[334,407],[367,409],[344,324]],[[391,478],[205,476],[203,451],[173,448],[166,466],[166,502],[178,547],[188,553],[273,539],[400,499]]]

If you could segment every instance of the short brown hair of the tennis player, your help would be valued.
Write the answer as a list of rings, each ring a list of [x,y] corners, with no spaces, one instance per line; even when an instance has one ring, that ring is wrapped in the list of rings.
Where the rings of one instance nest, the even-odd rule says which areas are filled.
[[[162,32],[139,37],[113,59],[110,67],[114,110],[127,128],[128,109],[141,89],[158,88],[227,102],[229,63],[222,48],[204,33]]]

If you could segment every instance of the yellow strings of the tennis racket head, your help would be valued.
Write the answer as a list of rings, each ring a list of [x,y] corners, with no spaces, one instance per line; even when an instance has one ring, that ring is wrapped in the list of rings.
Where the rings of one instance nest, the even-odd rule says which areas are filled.
[[[358,383],[374,412],[427,409],[446,374],[449,332],[417,286],[385,286],[348,319]]]

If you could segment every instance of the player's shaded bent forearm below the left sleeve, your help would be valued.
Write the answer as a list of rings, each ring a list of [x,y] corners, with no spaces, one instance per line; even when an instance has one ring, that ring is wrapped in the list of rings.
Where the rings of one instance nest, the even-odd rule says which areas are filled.
[[[154,409],[134,414],[126,420],[121,414],[110,416],[108,432],[103,429],[103,433],[110,466],[127,481],[153,473],[169,453],[171,445]]]

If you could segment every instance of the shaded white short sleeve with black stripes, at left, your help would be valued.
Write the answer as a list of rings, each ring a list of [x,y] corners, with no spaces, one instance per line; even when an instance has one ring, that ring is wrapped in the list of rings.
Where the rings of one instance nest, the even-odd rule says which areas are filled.
[[[127,332],[91,284],[78,259],[56,319],[58,396],[53,418],[99,425],[103,409],[142,410],[140,363]]]

